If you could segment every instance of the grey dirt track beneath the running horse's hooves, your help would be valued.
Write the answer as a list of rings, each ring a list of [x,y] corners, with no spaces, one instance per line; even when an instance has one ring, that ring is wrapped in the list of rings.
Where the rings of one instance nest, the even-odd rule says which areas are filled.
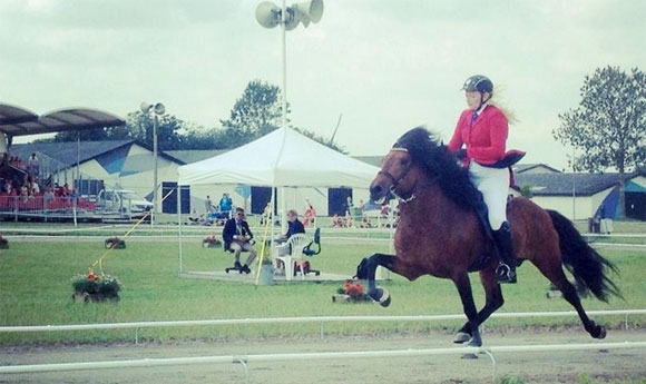
[[[598,344],[583,331],[535,334],[483,334],[486,346],[541,344]],[[418,337],[323,338],[288,341],[234,341],[231,343],[182,343],[170,345],[109,345],[70,347],[2,348],[0,365],[49,364],[190,356],[248,356],[342,351],[427,349],[456,347],[451,336],[430,334]],[[610,331],[603,342],[646,342],[643,331]],[[491,360],[460,355],[409,357],[361,357],[323,361],[275,361],[247,364],[248,383],[492,383],[493,374],[519,377],[525,383],[578,383],[588,375],[600,382],[646,377],[646,348],[593,348],[569,352],[496,353]],[[27,374],[0,374],[0,383],[141,383],[203,384],[245,383],[243,365],[232,363],[187,366],[133,367],[98,371],[70,371]]]

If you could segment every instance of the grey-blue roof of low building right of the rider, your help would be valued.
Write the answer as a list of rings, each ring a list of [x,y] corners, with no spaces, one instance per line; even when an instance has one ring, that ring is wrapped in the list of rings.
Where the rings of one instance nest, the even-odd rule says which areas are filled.
[[[637,175],[626,175],[626,179]],[[571,196],[572,188],[578,196],[591,196],[616,186],[619,174],[520,173],[515,179],[517,188],[529,186],[535,196]]]

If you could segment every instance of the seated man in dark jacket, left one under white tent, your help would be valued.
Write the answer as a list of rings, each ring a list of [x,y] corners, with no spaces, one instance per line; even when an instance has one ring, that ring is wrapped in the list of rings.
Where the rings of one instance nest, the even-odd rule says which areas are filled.
[[[235,268],[242,274],[251,273],[249,264],[256,258],[256,250],[251,244],[254,234],[249,229],[249,225],[244,219],[245,210],[243,208],[235,209],[235,216],[226,220],[224,229],[222,232],[222,238],[224,239],[224,249],[232,250],[235,258]],[[247,260],[244,265],[239,263],[239,254],[246,250],[249,253]]]

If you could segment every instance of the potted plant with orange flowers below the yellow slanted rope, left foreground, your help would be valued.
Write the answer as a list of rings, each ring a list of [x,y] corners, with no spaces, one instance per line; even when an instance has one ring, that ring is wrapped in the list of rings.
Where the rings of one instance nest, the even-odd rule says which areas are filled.
[[[72,298],[77,302],[106,302],[119,301],[121,282],[117,277],[109,275],[95,275],[90,272],[87,275],[77,275],[71,278],[74,289]]]

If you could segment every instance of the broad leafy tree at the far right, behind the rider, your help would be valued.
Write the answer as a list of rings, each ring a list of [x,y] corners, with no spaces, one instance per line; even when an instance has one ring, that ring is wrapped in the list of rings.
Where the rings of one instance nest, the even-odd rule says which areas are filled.
[[[625,217],[625,173],[646,161],[646,77],[618,67],[586,76],[578,108],[559,115],[555,139],[580,149],[574,169],[619,173],[619,215]]]

